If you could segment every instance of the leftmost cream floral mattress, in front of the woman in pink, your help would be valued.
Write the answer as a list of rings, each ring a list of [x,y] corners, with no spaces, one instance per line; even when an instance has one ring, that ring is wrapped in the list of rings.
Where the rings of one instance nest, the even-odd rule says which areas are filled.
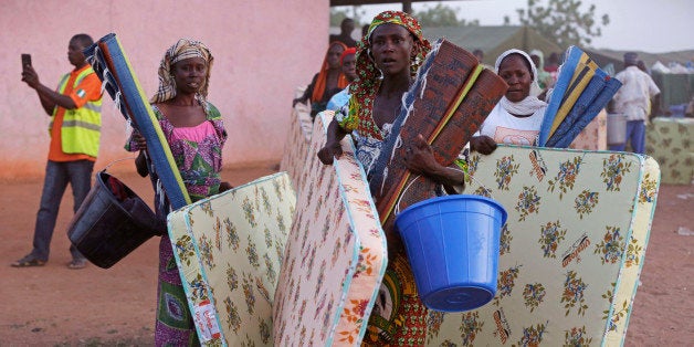
[[[296,194],[286,172],[171,212],[169,234],[203,346],[271,346]]]

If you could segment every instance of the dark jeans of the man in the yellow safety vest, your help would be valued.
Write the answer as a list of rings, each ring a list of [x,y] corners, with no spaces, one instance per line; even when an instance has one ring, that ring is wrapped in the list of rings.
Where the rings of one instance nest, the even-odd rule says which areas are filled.
[[[94,161],[51,161],[45,166],[45,178],[43,180],[43,192],[41,193],[41,206],[36,213],[36,225],[34,229],[33,250],[31,254],[42,261],[49,260],[51,239],[55,220],[60,209],[63,193],[67,183],[72,187],[74,198],[73,211],[77,212],[82,201],[86,198],[92,188],[92,171]],[[77,249],[71,244],[70,253],[75,260],[84,259]]]

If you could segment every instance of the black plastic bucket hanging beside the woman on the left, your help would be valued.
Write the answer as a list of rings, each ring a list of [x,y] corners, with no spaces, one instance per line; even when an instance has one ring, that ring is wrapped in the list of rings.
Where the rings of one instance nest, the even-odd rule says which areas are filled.
[[[70,222],[67,236],[90,262],[108,269],[162,231],[147,203],[117,178],[99,171]]]

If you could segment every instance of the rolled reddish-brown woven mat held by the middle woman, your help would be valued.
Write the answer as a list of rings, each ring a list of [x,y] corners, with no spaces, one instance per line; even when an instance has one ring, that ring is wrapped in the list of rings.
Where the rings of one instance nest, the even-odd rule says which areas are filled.
[[[417,177],[411,177],[402,160],[407,144],[421,134],[439,162],[453,164],[506,88],[504,80],[480,65],[472,53],[446,40],[437,42],[408,91],[369,177],[385,230],[392,224],[406,187],[408,194],[400,209],[435,196],[435,182],[430,179],[419,178],[410,185]]]

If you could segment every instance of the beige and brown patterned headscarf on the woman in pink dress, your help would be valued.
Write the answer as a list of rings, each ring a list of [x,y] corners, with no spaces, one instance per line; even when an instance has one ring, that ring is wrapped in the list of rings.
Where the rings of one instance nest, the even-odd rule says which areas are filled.
[[[200,87],[200,91],[196,95],[196,98],[204,104],[204,101],[208,96],[208,86],[210,85],[210,71],[212,70],[212,62],[214,57],[212,57],[212,53],[204,45],[204,43],[200,41],[189,40],[189,39],[180,39],[176,44],[169,48],[164,54],[164,59],[161,60],[161,64],[159,65],[159,87],[157,88],[157,93],[149,101],[153,104],[164,103],[169,101],[176,96],[176,82],[174,81],[174,75],[171,72],[171,66],[179,61],[189,57],[202,57],[208,64],[207,75],[204,76],[204,82]]]

